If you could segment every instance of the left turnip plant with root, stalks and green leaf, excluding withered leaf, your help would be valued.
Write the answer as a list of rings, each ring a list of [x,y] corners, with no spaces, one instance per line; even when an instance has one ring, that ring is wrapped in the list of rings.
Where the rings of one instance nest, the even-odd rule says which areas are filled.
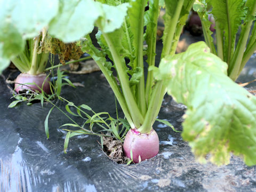
[[[49,9],[52,6],[55,10]],[[37,47],[42,39],[40,31],[58,11],[58,1],[0,1],[0,7],[0,72],[11,60],[21,71],[15,91],[41,91],[43,86],[50,93],[50,79],[43,73],[49,54],[37,54]]]

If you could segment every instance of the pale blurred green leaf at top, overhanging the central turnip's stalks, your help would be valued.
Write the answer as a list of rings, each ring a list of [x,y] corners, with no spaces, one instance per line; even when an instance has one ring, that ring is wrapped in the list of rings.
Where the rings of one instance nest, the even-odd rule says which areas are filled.
[[[93,0],[62,0],[58,17],[50,23],[49,33],[63,42],[78,41],[91,33],[96,21],[103,32],[110,33],[122,26],[128,5],[110,6]]]

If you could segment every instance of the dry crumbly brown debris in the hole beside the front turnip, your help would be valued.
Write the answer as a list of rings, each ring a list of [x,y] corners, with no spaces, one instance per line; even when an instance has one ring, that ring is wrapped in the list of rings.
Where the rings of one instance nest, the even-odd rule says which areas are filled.
[[[112,161],[118,164],[126,164],[130,160],[124,156],[123,142],[112,137],[103,137],[103,150]]]

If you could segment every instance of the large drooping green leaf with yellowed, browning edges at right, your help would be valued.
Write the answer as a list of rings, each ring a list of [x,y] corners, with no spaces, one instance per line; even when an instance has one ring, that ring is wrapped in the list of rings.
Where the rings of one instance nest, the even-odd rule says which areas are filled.
[[[256,98],[227,76],[227,64],[204,42],[163,58],[154,76],[187,106],[182,137],[197,159],[210,154],[209,161],[228,164],[233,152],[256,164]]]

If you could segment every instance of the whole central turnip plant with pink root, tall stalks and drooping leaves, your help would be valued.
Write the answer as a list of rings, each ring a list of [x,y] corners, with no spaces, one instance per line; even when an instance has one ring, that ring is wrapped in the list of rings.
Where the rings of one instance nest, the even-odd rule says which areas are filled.
[[[233,152],[243,156],[247,165],[256,164],[255,97],[227,76],[226,60],[211,53],[212,44],[209,48],[204,42],[198,42],[190,45],[186,52],[175,54],[195,1],[58,2],[49,8],[54,12],[54,6],[59,5],[43,27],[63,42],[78,41],[77,45],[97,62],[131,127],[124,141],[127,157],[132,154],[133,161],[140,162],[158,153],[159,141],[152,127],[167,92],[175,101],[187,106],[182,137],[189,141],[197,159],[227,164]],[[247,1],[250,2],[253,1]],[[149,9],[145,11],[147,4]],[[161,62],[156,67],[156,31],[161,7],[166,11],[165,29]],[[94,27],[99,29],[96,37],[100,47],[95,46],[89,36]],[[209,36],[205,37],[209,43]],[[252,40],[251,45],[253,43]],[[231,48],[233,45],[234,42]],[[0,44],[0,51],[3,55],[3,44]]]

